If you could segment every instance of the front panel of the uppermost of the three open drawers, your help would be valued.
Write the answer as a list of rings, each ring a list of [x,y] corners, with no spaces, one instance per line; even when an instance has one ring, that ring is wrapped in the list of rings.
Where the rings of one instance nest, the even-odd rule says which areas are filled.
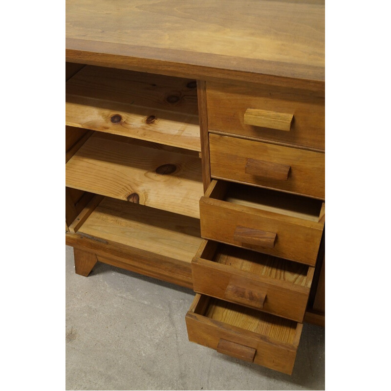
[[[201,237],[314,266],[324,228],[310,221],[208,196],[225,184],[213,180],[199,202]]]

